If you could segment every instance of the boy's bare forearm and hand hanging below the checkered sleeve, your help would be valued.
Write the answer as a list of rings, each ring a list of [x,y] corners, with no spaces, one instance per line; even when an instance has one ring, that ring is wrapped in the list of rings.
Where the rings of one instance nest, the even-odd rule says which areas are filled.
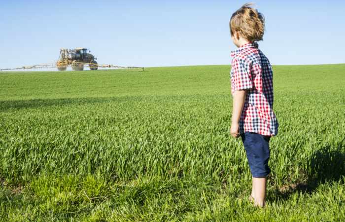
[[[239,122],[245,101],[246,90],[236,90],[233,95],[233,113],[230,133],[233,137],[239,137]]]

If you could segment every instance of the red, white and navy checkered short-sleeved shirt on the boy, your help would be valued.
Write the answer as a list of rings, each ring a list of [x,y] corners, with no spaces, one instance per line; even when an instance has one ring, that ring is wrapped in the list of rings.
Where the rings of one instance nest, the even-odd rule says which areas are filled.
[[[273,111],[272,66],[258,47],[253,42],[231,51],[231,94],[247,89],[239,133],[276,136],[279,124]]]

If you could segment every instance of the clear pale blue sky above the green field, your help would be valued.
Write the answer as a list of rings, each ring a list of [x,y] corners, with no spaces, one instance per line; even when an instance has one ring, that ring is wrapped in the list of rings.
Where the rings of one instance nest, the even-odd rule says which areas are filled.
[[[230,64],[240,0],[0,0],[0,68],[52,63],[86,47],[123,66]],[[344,0],[256,0],[273,65],[345,63]]]

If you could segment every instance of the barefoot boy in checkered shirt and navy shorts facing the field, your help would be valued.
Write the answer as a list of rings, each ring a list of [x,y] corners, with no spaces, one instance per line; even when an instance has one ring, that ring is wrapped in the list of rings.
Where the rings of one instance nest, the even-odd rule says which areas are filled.
[[[233,112],[230,133],[241,136],[252,174],[249,199],[263,207],[266,180],[271,169],[269,142],[278,133],[273,111],[273,71],[255,41],[262,40],[265,20],[261,13],[244,4],[230,19],[230,32],[237,50],[231,52],[231,94]]]

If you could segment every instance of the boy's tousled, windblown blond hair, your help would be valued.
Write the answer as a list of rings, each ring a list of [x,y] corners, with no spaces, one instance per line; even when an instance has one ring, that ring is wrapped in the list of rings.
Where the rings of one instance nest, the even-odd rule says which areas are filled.
[[[234,36],[234,32],[240,32],[249,41],[263,40],[265,18],[252,5],[253,3],[245,3],[232,14],[229,24],[231,36]]]

